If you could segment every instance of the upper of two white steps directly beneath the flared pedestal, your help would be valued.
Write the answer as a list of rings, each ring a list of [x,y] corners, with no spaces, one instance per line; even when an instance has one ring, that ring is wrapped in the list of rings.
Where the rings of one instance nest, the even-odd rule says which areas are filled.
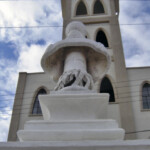
[[[118,124],[115,120],[93,121],[28,121],[24,130],[76,130],[76,129],[116,129]]]

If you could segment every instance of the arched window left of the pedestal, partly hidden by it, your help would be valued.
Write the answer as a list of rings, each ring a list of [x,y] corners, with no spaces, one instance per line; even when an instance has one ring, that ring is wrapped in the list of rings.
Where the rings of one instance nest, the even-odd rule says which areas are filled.
[[[43,94],[46,94],[46,90],[45,89],[40,89],[35,97],[35,101],[34,101],[34,105],[33,105],[33,109],[32,109],[32,114],[42,114],[42,111],[41,111],[41,106],[40,106],[40,103],[39,103],[39,98],[38,96],[39,95],[43,95]]]

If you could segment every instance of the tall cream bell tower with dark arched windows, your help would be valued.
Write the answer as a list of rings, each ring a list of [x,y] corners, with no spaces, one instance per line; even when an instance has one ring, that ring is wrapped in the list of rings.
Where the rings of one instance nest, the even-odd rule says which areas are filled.
[[[116,119],[126,131],[126,139],[134,139],[135,130],[128,75],[125,66],[120,27],[119,0],[62,0],[63,39],[71,21],[81,21],[86,38],[102,43],[111,56],[107,75],[94,85],[97,92],[109,93],[108,118]]]

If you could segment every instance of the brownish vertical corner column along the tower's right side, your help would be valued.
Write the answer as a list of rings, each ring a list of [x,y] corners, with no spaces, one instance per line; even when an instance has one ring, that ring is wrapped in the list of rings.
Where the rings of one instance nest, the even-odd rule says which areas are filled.
[[[135,121],[133,116],[129,80],[125,65],[118,16],[111,17],[110,24],[112,49],[115,63],[115,82],[118,93],[117,101],[120,105],[121,124],[126,132],[133,132],[135,130]],[[135,139],[135,135],[126,135],[126,139]]]

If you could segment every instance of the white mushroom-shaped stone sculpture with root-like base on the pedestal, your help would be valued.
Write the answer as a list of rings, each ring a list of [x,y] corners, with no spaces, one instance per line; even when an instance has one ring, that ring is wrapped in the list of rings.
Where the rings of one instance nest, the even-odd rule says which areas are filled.
[[[66,28],[66,39],[47,48],[41,64],[57,81],[55,91],[92,91],[94,82],[108,70],[107,49],[86,36],[85,26],[72,22]]]

